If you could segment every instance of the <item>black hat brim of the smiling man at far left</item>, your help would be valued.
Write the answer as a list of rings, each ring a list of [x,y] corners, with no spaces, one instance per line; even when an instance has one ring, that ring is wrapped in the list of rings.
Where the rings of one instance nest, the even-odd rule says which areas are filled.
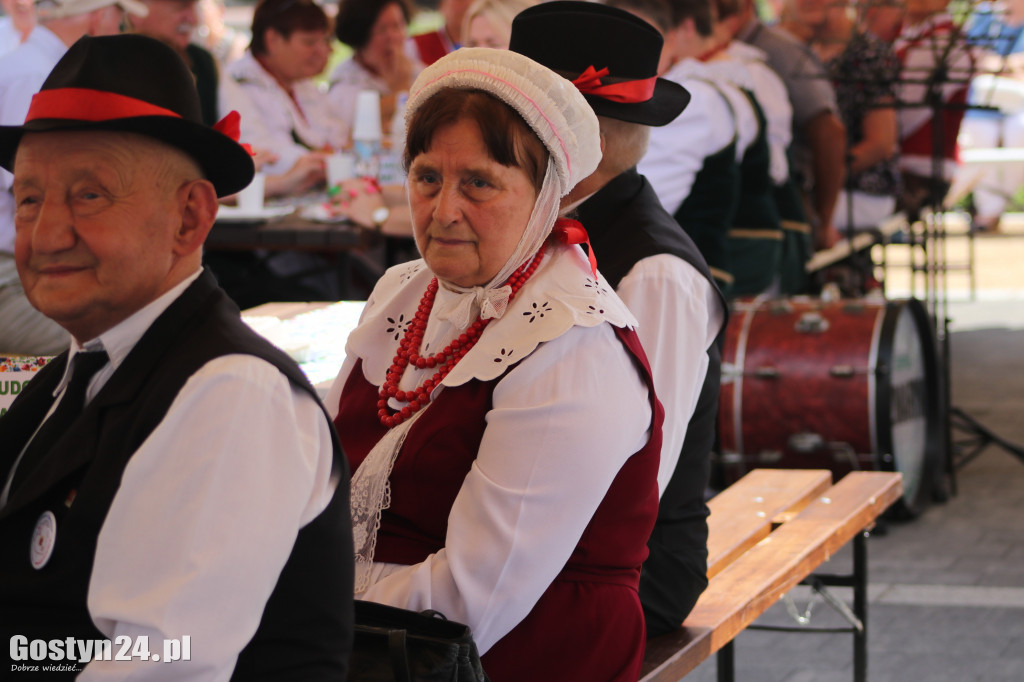
[[[241,191],[255,173],[252,156],[231,138],[213,128],[167,116],[110,121],[35,119],[24,126],[0,126],[0,167],[14,172],[14,156],[25,133],[58,131],[129,132],[153,137],[195,159],[218,197]]]

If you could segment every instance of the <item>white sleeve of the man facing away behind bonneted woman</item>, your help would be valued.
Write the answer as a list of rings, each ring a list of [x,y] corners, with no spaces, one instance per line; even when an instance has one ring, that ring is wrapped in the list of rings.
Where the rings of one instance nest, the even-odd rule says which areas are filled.
[[[639,261],[615,290],[636,315],[650,360],[654,393],[665,407],[657,489],[679,461],[686,427],[708,374],[708,348],[725,314],[715,289],[696,268],[671,254]]]

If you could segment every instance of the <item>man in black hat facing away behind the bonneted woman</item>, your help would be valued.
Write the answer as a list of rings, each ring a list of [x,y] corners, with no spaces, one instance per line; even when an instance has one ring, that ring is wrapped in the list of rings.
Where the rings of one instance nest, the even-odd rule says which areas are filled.
[[[520,12],[510,49],[575,83],[598,115],[604,156],[563,200],[587,226],[601,271],[639,321],[665,406],[658,519],[640,577],[648,635],[678,628],[708,584],[705,489],[718,412],[715,340],[725,301],[692,240],[636,170],[649,126],[689,101],[657,78],[662,36],[629,12],[549,2]]]

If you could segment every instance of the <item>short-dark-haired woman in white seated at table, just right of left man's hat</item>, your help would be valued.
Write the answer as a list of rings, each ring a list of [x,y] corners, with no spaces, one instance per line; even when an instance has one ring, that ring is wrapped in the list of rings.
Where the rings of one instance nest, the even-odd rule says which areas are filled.
[[[260,0],[249,50],[225,70],[224,80],[233,83],[221,87],[221,105],[242,115],[241,139],[265,155],[260,170],[271,191],[273,176],[295,181],[290,194],[324,187],[327,156],[347,143],[347,128],[314,80],[327,68],[331,41],[331,20],[313,0]],[[341,296],[333,258],[282,251],[253,263],[252,255],[218,253],[207,260],[242,307]]]

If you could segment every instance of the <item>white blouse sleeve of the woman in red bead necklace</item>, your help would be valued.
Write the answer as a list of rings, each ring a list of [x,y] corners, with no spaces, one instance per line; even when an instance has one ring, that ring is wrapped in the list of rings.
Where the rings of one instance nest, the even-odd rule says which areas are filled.
[[[646,385],[609,325],[573,327],[543,344],[493,399],[444,549],[362,595],[466,623],[481,653],[564,566],[651,419]]]

